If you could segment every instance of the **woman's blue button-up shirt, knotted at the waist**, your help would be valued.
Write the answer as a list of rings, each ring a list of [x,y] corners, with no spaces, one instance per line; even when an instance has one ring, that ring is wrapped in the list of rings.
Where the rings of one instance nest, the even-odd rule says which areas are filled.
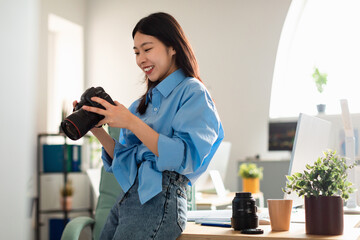
[[[162,171],[176,171],[190,183],[205,172],[224,138],[220,118],[205,86],[186,77],[179,69],[154,87],[146,99],[146,112],[129,110],[158,132],[155,156],[131,131],[121,129],[115,139],[114,159],[103,149],[105,170],[112,172],[124,192],[139,178],[139,199],[143,204],[162,190]]]

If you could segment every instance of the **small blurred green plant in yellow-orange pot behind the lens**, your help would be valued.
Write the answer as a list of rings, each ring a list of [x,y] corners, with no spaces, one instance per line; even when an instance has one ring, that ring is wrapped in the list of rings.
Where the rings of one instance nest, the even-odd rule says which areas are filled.
[[[260,192],[260,179],[263,177],[263,168],[255,163],[243,163],[239,167],[238,175],[243,180],[243,192]]]

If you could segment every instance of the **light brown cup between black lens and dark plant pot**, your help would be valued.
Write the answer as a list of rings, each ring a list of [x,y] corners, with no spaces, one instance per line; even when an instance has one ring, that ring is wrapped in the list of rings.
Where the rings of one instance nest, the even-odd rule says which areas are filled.
[[[288,231],[292,209],[291,199],[268,199],[270,225],[273,231]]]

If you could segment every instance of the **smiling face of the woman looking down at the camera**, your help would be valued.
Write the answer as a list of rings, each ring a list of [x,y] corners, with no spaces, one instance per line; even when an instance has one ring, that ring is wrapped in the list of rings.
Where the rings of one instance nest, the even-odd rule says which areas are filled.
[[[137,65],[152,82],[162,81],[177,69],[174,48],[165,46],[156,37],[137,32],[134,52]]]

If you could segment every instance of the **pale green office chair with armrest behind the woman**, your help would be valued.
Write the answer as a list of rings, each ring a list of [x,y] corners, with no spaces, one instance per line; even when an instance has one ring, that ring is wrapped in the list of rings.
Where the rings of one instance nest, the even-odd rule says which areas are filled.
[[[109,134],[113,138],[118,139],[119,129],[109,127]],[[99,186],[100,195],[96,205],[94,219],[91,217],[76,217],[72,219],[66,225],[61,240],[78,240],[82,230],[87,226],[91,227],[92,239],[98,240],[110,209],[115,204],[116,198],[121,191],[122,189],[114,175],[106,172],[104,167],[102,167]]]

